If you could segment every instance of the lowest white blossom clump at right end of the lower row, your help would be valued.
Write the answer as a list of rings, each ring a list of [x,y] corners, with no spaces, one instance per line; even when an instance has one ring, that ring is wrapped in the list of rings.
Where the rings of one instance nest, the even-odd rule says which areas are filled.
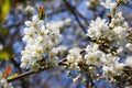
[[[103,69],[103,76],[107,78],[111,78],[112,76],[120,76],[123,73],[123,67],[124,64],[123,63],[119,63],[119,57],[111,55],[111,54],[107,54],[106,55],[106,59],[103,59],[103,65],[102,65],[102,69]]]

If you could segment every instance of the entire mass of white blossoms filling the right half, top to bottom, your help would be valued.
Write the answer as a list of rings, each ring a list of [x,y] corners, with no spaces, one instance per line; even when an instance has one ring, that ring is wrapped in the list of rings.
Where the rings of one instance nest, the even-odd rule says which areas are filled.
[[[108,15],[109,21],[99,16],[91,21],[86,34],[90,37],[91,43],[82,48],[85,54],[81,54],[80,48],[69,51],[66,58],[70,68],[81,69],[79,64],[84,61],[85,65],[102,68],[103,77],[110,79],[113,76],[122,75],[125,66],[132,67],[132,30],[125,22],[122,12],[118,10],[118,4],[121,2],[127,3],[128,0],[117,2],[100,0],[100,4],[111,12]],[[121,58],[125,61],[121,63]]]

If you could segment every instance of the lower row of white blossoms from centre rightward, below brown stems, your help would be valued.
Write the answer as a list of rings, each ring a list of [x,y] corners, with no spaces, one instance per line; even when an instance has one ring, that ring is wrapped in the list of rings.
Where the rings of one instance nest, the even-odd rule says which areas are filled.
[[[67,62],[73,69],[80,69],[79,63],[85,61],[87,65],[94,65],[97,67],[102,67],[103,75],[106,77],[111,77],[113,75],[121,75],[124,64],[119,63],[120,57],[112,54],[105,54],[99,50],[99,45],[90,44],[85,48],[85,55],[80,54],[82,50],[72,48],[67,56]]]

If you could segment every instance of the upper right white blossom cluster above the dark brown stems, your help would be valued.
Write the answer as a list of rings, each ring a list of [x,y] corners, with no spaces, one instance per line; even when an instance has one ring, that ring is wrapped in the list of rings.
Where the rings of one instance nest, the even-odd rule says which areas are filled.
[[[124,21],[122,12],[117,12],[111,22],[100,18],[91,21],[87,35],[97,41],[106,38],[111,43],[111,46],[123,46],[128,43],[129,31],[129,25]]]

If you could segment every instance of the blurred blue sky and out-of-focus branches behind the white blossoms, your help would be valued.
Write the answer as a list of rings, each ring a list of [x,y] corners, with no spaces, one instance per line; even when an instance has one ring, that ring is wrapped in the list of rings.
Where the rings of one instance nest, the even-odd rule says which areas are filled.
[[[91,1],[91,0],[90,0]],[[85,47],[88,37],[85,35],[89,22],[97,16],[107,18],[109,10],[89,0],[0,0],[0,70],[11,66],[11,75],[22,74],[30,69],[20,68],[21,51],[25,43],[24,21],[38,14],[40,8],[44,10],[44,22],[53,22],[61,29],[63,35],[59,50],[59,59],[65,58],[72,47]],[[132,0],[129,4],[122,4],[120,10],[125,20],[132,26]],[[77,70],[72,70],[76,76]],[[73,76],[74,77],[74,76]],[[73,78],[66,75],[62,67],[44,70],[12,81],[14,88],[86,88],[82,81],[73,82]],[[114,88],[105,80],[96,82],[99,88]]]

